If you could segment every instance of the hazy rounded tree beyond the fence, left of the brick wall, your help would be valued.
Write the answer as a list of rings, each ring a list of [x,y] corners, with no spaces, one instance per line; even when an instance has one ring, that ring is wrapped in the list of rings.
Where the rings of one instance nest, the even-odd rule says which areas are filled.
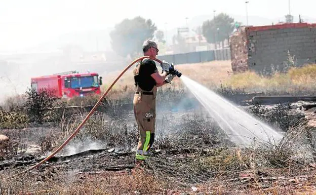
[[[202,33],[208,43],[222,42],[234,29],[234,19],[220,13],[212,20],[203,22]]]

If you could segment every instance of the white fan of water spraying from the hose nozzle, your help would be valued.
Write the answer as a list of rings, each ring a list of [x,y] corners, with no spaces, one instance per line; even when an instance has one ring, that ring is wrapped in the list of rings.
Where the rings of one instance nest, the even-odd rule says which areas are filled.
[[[253,142],[277,143],[282,139],[283,135],[280,131],[214,91],[189,77],[182,76],[181,80],[234,143],[241,145],[250,145]]]

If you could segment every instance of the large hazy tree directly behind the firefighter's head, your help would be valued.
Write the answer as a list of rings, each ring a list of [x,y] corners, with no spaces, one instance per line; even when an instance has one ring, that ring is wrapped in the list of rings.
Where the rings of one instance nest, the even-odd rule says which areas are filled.
[[[140,16],[133,19],[124,19],[116,24],[110,32],[112,49],[119,55],[132,57],[142,52],[143,42],[147,38],[153,38],[157,27],[150,19],[146,20]]]

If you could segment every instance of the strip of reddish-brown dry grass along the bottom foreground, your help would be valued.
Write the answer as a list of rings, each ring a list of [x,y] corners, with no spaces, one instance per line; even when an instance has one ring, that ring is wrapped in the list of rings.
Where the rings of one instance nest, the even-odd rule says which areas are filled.
[[[55,172],[56,174],[56,172]],[[26,179],[26,178],[24,178]],[[35,179],[35,178],[28,178]],[[298,183],[286,180],[272,180],[262,185],[250,178],[240,178],[240,182],[230,181],[227,177],[217,177],[214,180],[188,187],[176,187],[163,179],[156,179],[147,171],[104,172],[96,175],[79,174],[67,180],[67,177],[54,179],[46,177],[46,182],[13,182],[11,186],[2,183],[2,194],[315,194],[313,179]],[[245,188],[245,185],[248,187]],[[265,187],[269,186],[269,187]]]

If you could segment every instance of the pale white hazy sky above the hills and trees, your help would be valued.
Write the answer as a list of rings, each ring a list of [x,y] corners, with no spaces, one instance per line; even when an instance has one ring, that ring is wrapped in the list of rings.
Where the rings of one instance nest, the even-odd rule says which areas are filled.
[[[111,3],[108,3],[111,2]],[[248,14],[284,17],[288,0],[249,0]],[[316,1],[291,0],[291,14],[315,17]],[[185,18],[224,12],[246,15],[243,0],[1,0],[0,51],[24,48],[59,34],[112,27],[124,18],[141,15],[161,29],[185,24]],[[242,21],[246,23],[245,21]],[[251,24],[250,24],[251,25]]]

